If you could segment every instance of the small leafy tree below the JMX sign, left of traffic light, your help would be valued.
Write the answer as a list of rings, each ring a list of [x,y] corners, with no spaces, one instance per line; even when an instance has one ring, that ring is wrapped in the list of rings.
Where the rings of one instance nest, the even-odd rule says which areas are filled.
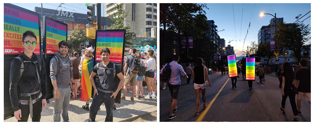
[[[87,40],[91,39],[86,37],[85,28],[79,27],[79,24],[74,27],[72,34],[68,36],[69,45],[74,45],[74,47],[72,48],[73,52],[78,52],[79,50],[81,50],[81,48],[79,48],[79,45],[85,43]]]

